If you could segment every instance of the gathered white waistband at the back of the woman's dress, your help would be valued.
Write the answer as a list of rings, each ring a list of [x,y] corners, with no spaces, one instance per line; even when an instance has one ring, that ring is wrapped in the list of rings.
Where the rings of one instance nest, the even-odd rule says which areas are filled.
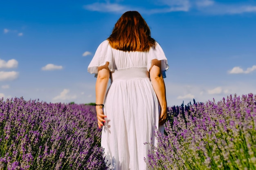
[[[138,78],[149,78],[147,68],[125,68],[121,70],[115,70],[110,74],[111,82]]]

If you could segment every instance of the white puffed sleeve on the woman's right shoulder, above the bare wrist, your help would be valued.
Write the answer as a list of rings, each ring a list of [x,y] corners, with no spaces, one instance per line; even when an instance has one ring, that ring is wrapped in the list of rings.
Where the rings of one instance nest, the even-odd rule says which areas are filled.
[[[148,62],[147,62],[148,71],[151,67],[151,62],[154,59],[161,60],[162,75],[165,78],[166,77],[165,71],[168,70],[169,66],[168,66],[167,58],[164,54],[164,51],[157,42],[155,43],[155,47],[152,46],[148,51]]]

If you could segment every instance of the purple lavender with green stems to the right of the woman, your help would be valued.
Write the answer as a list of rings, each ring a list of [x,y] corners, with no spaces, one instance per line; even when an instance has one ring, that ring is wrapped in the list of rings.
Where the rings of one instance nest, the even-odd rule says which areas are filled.
[[[193,104],[155,136],[152,170],[256,170],[256,95]]]

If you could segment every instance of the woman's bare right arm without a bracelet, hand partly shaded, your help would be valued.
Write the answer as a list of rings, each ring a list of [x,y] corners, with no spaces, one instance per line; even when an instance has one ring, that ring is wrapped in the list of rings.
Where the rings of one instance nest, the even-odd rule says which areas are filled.
[[[150,79],[157,95],[157,99],[161,106],[161,114],[159,117],[159,125],[163,125],[167,120],[167,102],[164,79],[161,70],[161,60],[154,59],[151,62],[149,70]]]

